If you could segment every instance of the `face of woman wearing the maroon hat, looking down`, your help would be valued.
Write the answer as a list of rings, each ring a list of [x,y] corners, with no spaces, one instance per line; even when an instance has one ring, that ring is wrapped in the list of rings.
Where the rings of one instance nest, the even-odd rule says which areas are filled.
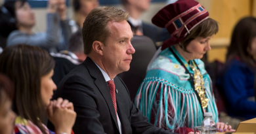
[[[211,50],[211,46],[209,44],[209,40],[213,36],[209,36],[206,38],[196,37],[196,39],[192,40],[188,46],[186,46],[186,57],[189,59],[201,59],[203,58],[203,54],[205,54],[208,50]]]

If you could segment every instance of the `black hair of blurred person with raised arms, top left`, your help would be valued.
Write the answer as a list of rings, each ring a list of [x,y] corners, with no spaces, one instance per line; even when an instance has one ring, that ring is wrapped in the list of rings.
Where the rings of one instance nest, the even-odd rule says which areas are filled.
[[[18,29],[16,23],[16,2],[20,1],[20,7],[26,3],[26,0],[9,0],[0,7],[0,35],[8,37],[9,34]]]

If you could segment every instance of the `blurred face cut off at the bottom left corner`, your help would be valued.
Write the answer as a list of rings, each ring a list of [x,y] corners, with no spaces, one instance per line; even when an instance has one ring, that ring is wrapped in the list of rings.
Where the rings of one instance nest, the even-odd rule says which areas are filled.
[[[11,134],[13,131],[14,120],[16,114],[12,111],[12,101],[7,99],[5,92],[1,92],[1,102],[0,102],[0,133]],[[5,96],[5,97],[3,97]]]

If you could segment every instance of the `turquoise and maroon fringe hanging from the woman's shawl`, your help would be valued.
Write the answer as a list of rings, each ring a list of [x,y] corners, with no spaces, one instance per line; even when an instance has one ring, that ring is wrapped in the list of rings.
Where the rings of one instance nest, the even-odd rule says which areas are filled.
[[[205,80],[209,86],[209,80]],[[207,110],[213,112],[213,120],[219,122],[218,111],[212,89],[205,88],[209,99]],[[200,126],[203,113],[193,89],[182,89],[163,78],[146,78],[142,82],[135,106],[142,111],[150,123],[157,127],[175,131],[179,127]],[[155,118],[152,122],[152,118]]]

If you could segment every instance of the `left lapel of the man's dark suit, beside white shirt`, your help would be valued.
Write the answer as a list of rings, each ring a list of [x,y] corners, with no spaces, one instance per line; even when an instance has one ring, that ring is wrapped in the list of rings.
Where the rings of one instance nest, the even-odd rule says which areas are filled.
[[[93,62],[91,58],[87,57],[83,63],[87,66],[87,69],[89,70],[90,75],[96,78],[95,85],[97,86],[98,90],[100,90],[100,93],[102,94],[106,103],[108,104],[108,109],[110,110],[110,114],[116,123],[117,129],[119,130],[117,118],[116,118],[116,111],[114,108],[112,97],[110,95],[110,89],[108,88],[108,84],[106,83],[104,76],[102,75],[100,69],[98,69],[98,67],[96,66],[96,64]]]

